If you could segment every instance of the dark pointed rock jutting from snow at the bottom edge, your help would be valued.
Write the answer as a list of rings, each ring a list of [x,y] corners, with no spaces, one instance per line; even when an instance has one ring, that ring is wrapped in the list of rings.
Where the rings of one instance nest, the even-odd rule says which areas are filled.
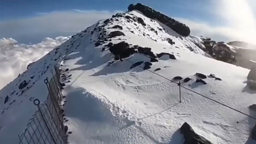
[[[186,122],[180,127],[180,133],[183,134],[185,139],[183,144],[212,144],[209,140],[196,134]]]

